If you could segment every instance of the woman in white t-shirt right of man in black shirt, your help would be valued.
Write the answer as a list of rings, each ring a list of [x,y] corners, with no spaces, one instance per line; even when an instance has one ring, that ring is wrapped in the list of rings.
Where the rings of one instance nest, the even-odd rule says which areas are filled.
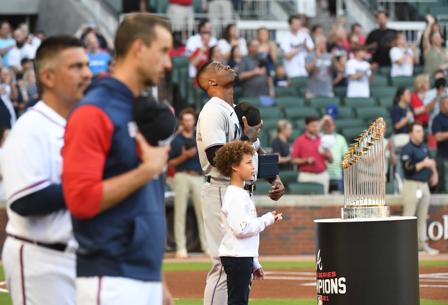
[[[415,42],[409,47],[406,34],[398,33],[395,36],[394,45],[395,47],[389,51],[392,62],[391,77],[412,76],[414,64],[420,62],[415,53]]]

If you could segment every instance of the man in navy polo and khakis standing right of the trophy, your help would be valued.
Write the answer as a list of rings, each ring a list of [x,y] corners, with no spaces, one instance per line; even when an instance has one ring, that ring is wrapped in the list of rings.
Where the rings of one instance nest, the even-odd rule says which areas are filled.
[[[417,216],[418,251],[436,255],[426,242],[426,216],[428,216],[431,193],[429,185],[435,186],[438,174],[435,161],[430,159],[428,147],[423,143],[423,126],[419,122],[409,124],[409,143],[403,147],[401,162],[405,181],[403,182],[403,216]],[[432,172],[430,178],[430,170]],[[429,181],[429,184],[428,184]]]

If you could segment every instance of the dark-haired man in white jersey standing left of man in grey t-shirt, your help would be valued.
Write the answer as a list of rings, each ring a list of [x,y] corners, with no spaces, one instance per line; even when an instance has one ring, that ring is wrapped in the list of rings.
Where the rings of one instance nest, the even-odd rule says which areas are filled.
[[[301,21],[297,16],[289,17],[291,31],[284,34],[280,48],[284,53],[286,75],[291,77],[308,76],[305,69],[305,57],[314,50],[313,39],[308,33],[302,32]]]

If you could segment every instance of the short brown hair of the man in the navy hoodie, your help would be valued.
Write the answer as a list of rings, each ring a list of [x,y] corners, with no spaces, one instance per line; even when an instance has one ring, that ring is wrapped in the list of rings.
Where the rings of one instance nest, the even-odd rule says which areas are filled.
[[[162,17],[149,14],[132,14],[121,22],[115,35],[115,57],[124,57],[132,43],[142,39],[150,47],[157,38],[155,26],[159,25],[171,33],[171,26]]]

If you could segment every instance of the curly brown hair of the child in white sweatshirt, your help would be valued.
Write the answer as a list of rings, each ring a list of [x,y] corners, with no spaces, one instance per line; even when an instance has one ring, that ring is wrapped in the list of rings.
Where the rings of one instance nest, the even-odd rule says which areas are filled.
[[[213,161],[221,175],[230,177],[232,174],[232,164],[239,165],[245,154],[251,156],[255,154],[255,148],[252,146],[252,143],[236,140],[218,149]]]

